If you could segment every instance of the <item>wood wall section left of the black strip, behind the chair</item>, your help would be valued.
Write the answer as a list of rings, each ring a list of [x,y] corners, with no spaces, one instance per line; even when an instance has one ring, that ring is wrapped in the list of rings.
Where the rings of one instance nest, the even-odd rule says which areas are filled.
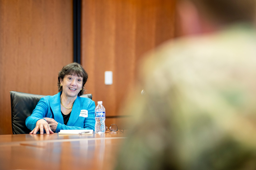
[[[71,0],[0,0],[0,134],[12,134],[9,91],[54,95],[73,62]]]

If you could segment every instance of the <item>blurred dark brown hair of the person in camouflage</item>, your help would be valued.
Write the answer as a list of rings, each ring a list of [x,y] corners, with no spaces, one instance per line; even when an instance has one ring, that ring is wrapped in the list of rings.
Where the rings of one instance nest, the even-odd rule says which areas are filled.
[[[254,21],[255,0],[189,0],[198,9],[222,23]]]

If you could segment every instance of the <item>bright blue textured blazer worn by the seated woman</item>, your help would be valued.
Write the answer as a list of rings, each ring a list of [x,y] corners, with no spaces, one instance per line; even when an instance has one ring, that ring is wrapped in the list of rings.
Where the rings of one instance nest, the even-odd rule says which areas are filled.
[[[36,127],[36,122],[44,117],[53,118],[58,122],[55,132],[62,129],[93,129],[95,127],[95,102],[89,98],[81,98],[77,96],[74,101],[73,108],[67,125],[64,124],[63,116],[60,111],[60,95],[62,91],[53,96],[45,96],[37,103],[31,116],[26,119],[26,126],[33,130]],[[83,111],[81,111],[83,110]],[[88,111],[88,117],[82,112]]]

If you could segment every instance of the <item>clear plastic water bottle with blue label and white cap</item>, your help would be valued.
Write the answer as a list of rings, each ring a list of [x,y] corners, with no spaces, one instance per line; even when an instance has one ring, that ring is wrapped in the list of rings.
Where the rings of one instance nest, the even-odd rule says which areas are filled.
[[[102,101],[95,107],[95,133],[105,133],[105,108]]]

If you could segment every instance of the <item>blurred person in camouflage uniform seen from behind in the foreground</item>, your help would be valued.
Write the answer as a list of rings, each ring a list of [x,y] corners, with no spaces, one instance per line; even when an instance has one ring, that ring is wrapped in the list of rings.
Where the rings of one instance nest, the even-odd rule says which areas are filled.
[[[177,11],[186,36],[140,65],[116,169],[256,169],[255,0],[178,0]]]

